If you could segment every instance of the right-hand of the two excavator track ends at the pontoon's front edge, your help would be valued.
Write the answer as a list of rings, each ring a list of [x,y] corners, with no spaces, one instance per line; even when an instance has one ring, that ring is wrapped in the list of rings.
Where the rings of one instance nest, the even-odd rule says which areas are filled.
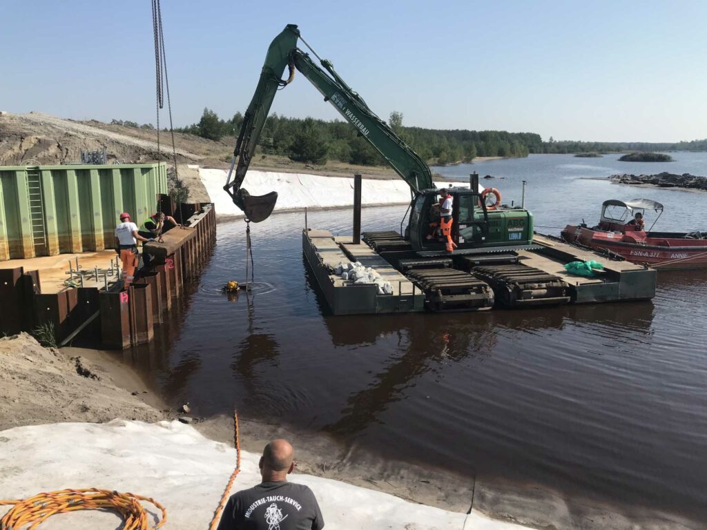
[[[504,307],[558,305],[570,301],[569,285],[559,276],[523,264],[472,267],[471,273],[493,288]]]

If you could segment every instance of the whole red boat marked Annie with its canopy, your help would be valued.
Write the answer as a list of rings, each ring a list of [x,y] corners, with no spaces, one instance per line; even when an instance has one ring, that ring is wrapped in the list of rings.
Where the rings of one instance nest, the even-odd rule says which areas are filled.
[[[646,211],[658,214],[648,231],[635,220],[636,213],[645,218]],[[662,204],[649,199],[604,201],[599,225],[567,225],[562,239],[654,269],[706,269],[707,232],[653,232],[662,211]]]

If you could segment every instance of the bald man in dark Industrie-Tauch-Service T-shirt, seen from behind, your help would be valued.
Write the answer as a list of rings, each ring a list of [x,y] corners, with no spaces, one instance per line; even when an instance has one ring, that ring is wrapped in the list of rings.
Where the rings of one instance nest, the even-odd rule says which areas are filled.
[[[231,495],[218,530],[320,530],[322,511],[312,490],[287,481],[295,468],[287,440],[265,446],[258,464],[262,482]]]

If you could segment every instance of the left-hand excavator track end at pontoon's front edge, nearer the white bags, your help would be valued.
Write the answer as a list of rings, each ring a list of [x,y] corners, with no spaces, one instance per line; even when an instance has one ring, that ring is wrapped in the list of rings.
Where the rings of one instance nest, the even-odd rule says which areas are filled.
[[[406,275],[425,293],[429,310],[481,311],[493,307],[488,283],[456,269],[416,269]]]

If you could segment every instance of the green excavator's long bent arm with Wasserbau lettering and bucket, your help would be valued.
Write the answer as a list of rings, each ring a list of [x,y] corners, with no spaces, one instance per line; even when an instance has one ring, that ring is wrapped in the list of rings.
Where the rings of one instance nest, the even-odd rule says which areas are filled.
[[[399,139],[390,126],[368,108],[363,98],[354,92],[334,71],[334,66],[330,61],[322,60],[317,56],[324,67],[322,69],[312,61],[308,54],[299,49],[297,47],[298,38],[301,39],[297,26],[288,24],[275,37],[268,49],[255,95],[253,95],[243,118],[228,179],[223,187],[233,198],[235,205],[243,210],[245,216],[254,223],[267,219],[275,207],[276,192],[254,196],[250,195],[241,185],[255,153],[255,147],[265,125],[275,93],[292,82],[295,70],[300,71],[320,91],[324,100],[331,103],[341,116],[358,130],[359,136],[366,139],[385,158],[395,172],[407,182],[412,194],[416,194],[421,189],[433,188],[430,168],[424,160]],[[305,41],[303,40],[303,42]],[[314,53],[313,50],[312,53]],[[289,77],[283,80],[282,75],[286,68],[289,69]],[[238,165],[236,165],[237,158]],[[235,175],[233,174],[234,167]]]

